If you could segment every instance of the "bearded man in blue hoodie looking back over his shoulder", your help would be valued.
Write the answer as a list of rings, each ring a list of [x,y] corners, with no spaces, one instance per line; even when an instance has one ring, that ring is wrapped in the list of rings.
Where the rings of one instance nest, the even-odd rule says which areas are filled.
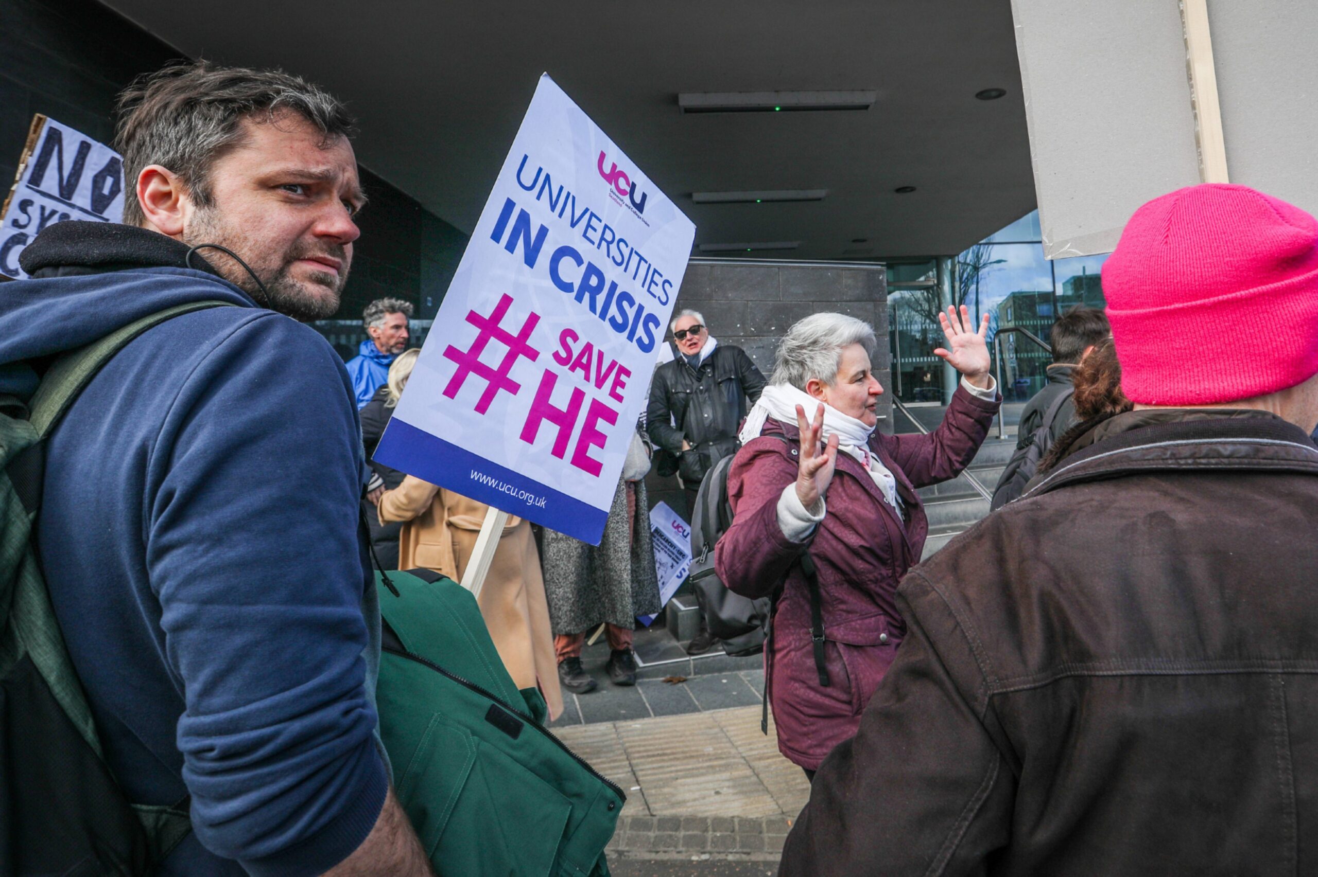
[[[67,221],[0,296],[0,391],[142,316],[47,442],[38,550],[162,874],[428,874],[376,735],[357,410],[330,316],[364,196],[332,96],[195,63],[120,103],[125,223]],[[291,317],[291,319],[290,319]]]

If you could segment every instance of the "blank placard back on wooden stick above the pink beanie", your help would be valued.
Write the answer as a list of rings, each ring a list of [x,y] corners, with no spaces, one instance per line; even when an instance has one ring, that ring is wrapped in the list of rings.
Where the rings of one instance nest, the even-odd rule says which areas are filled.
[[[1111,253],[1140,204],[1201,182],[1182,4],[1011,5],[1044,255]],[[1230,180],[1318,213],[1318,4],[1206,13]]]

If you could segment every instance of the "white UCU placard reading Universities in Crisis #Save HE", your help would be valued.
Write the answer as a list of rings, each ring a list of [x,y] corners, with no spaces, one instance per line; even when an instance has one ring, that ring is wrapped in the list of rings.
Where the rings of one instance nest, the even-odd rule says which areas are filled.
[[[374,458],[597,545],[695,234],[542,76]]]

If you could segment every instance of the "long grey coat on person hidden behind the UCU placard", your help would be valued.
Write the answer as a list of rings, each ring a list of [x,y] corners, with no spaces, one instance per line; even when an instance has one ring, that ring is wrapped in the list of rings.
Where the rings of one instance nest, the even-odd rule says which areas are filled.
[[[627,520],[626,483],[618,481],[598,548],[544,531],[544,593],[555,635],[581,633],[604,622],[631,628],[638,615],[652,615],[660,608],[646,482],[634,482],[635,521]]]

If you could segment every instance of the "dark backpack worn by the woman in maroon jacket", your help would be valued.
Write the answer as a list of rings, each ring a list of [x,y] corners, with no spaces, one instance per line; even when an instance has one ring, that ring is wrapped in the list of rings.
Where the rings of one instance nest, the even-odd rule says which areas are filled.
[[[791,444],[782,433],[770,433],[764,437]],[[734,449],[733,453],[714,464],[705,474],[705,479],[700,482],[696,510],[691,516],[692,560],[688,581],[691,581],[696,602],[705,615],[709,632],[724,644],[725,653],[741,657],[759,654],[768,647],[774,632],[774,611],[778,608],[778,598],[783,591],[784,582],[775,586],[771,597],[750,599],[729,590],[718,578],[718,573],[714,571],[718,539],[733,524],[733,507],[728,502],[728,470],[731,469],[735,456]],[[697,545],[699,556],[696,554]],[[809,550],[803,552],[797,562],[801,571],[805,573],[811,598],[811,640],[815,644],[815,670],[818,674],[820,685],[828,687],[829,676],[824,654],[824,608],[820,599],[818,570],[815,568],[815,558],[811,557]],[[764,686],[764,694],[767,694],[767,677]],[[767,697],[763,698],[763,703],[764,715],[760,718],[760,730],[767,733]]]

